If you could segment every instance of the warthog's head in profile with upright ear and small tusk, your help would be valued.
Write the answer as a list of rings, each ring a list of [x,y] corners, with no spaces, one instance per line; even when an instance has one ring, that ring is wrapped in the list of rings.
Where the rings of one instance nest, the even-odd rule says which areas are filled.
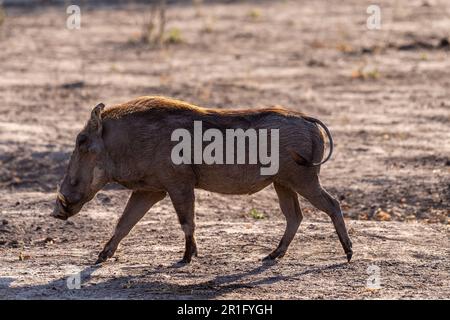
[[[75,150],[58,189],[52,213],[55,218],[66,220],[80,212],[108,182],[107,154],[102,139],[101,112],[104,107],[99,104],[92,110],[91,118],[77,136]]]

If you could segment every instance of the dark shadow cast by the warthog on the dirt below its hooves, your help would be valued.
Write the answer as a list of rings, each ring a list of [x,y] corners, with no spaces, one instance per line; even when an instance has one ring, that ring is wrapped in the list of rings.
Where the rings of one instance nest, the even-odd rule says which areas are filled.
[[[279,281],[299,280],[302,276],[321,273],[326,270],[346,268],[347,263],[329,264],[323,266],[309,266],[307,270],[289,275],[268,275],[264,272],[274,267],[277,262],[265,262],[253,269],[218,275],[207,281],[192,283],[175,283],[167,276],[174,266],[159,268],[158,270],[146,271],[142,269],[141,274],[133,276],[112,277],[104,282],[96,282],[99,278],[93,273],[101,266],[88,266],[80,275],[80,288],[70,289],[69,277],[56,279],[47,284],[33,286],[11,287],[14,278],[0,277],[0,298],[6,299],[215,299],[240,289],[251,289],[261,285],[270,285]],[[132,268],[136,269],[136,268]],[[166,273],[165,273],[166,271]],[[154,280],[154,277],[161,280]],[[150,279],[148,279],[150,278]],[[92,282],[90,282],[93,280]],[[185,280],[185,279],[183,279]],[[74,284],[74,283],[72,283]],[[5,291],[6,290],[6,291]]]

